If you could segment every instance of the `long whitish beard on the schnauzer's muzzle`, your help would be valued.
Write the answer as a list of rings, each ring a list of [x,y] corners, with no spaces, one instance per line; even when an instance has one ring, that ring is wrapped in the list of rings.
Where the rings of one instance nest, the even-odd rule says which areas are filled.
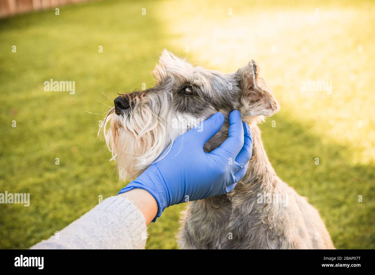
[[[148,98],[145,103],[135,102],[132,109],[121,116],[116,115],[114,109],[108,113],[101,128],[121,180],[137,177],[150,164],[164,158],[173,141],[190,128],[189,123],[175,127],[181,114],[171,111],[168,104],[161,106],[165,100],[153,102]]]

